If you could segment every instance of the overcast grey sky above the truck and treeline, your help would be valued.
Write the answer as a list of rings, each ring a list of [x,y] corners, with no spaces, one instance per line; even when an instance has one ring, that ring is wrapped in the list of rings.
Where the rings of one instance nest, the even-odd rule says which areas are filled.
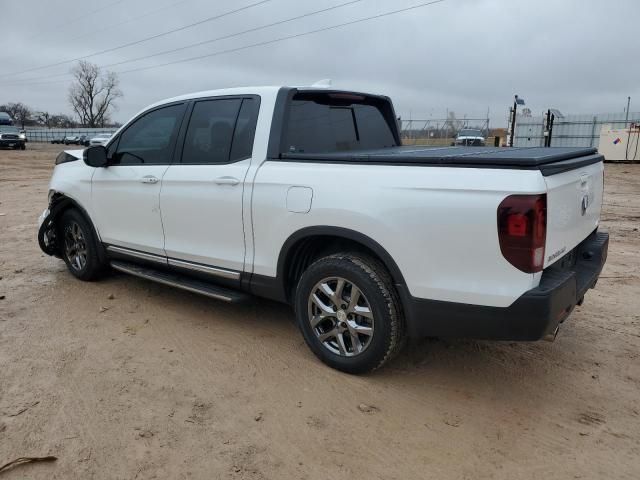
[[[271,0],[218,20],[87,58],[108,65],[285,20],[347,0]],[[424,3],[361,0],[297,21],[111,67],[123,72],[308,32]],[[0,104],[70,113],[72,63],[258,0],[0,0]],[[104,7],[108,8],[104,8]],[[95,12],[96,10],[101,11]],[[155,13],[154,13],[155,12]],[[137,17],[141,17],[136,19]],[[392,97],[403,118],[484,117],[505,126],[513,94],[534,114],[640,111],[639,0],[445,0],[330,31],[197,61],[121,73],[113,118],[191,91],[308,85]],[[634,108],[635,107],[635,108]]]

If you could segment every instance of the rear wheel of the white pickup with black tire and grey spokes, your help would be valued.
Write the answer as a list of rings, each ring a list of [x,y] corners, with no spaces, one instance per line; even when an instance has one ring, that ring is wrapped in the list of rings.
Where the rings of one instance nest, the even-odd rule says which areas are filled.
[[[318,292],[322,296],[323,290],[319,285],[325,285],[324,280],[328,280],[327,285],[332,281],[336,282],[334,294],[339,288],[344,289],[339,295],[339,302],[344,301],[344,306],[332,307],[334,311],[337,308],[341,309],[342,322],[338,311],[335,317],[331,317],[331,314],[314,316],[314,309],[316,312],[322,310],[317,310],[317,303],[311,298],[314,293],[317,297]],[[338,280],[345,281],[343,287],[338,287]],[[357,314],[348,314],[349,320],[345,319],[345,312],[354,311],[351,307],[350,293],[354,287],[359,289],[361,297],[364,297],[360,303],[366,303],[366,307],[358,308],[368,310],[372,314],[371,320]],[[334,300],[329,296],[323,298],[323,302],[328,305],[331,302],[335,304],[334,300],[338,297],[334,295]],[[391,360],[405,343],[404,319],[391,276],[380,262],[366,255],[336,253],[316,260],[305,270],[298,282],[295,311],[298,325],[311,351],[325,364],[346,373],[366,373],[380,368]],[[324,320],[312,326],[312,319],[318,317],[323,317]],[[359,321],[365,323],[358,325]],[[360,329],[363,325],[365,329],[370,329],[371,333],[366,336],[354,334],[353,325]],[[344,335],[341,345],[337,335],[329,337],[328,341],[320,340],[319,336],[337,332],[340,328]],[[359,337],[356,340],[358,347],[362,348],[359,353],[354,353],[357,349],[352,340],[353,335]],[[336,352],[338,348],[340,351]]]

